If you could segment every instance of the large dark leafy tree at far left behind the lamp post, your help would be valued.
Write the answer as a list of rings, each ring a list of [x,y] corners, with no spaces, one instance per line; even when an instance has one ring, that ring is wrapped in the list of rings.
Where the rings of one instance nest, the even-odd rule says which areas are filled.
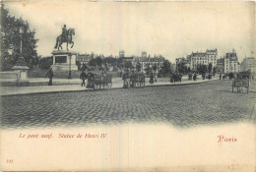
[[[26,25],[25,25],[26,24]],[[22,54],[20,52],[19,28],[25,27],[22,37]],[[30,68],[36,63],[37,52],[35,50],[38,39],[34,38],[35,31],[30,29],[30,24],[22,18],[11,17],[9,11],[1,4],[1,70],[10,70],[17,62],[18,57],[24,57]]]

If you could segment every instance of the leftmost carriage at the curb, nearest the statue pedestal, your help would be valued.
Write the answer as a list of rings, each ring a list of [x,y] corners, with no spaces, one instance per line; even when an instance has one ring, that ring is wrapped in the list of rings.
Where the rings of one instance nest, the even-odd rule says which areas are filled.
[[[100,89],[112,86],[112,76],[109,74],[93,74],[88,76],[88,88]]]

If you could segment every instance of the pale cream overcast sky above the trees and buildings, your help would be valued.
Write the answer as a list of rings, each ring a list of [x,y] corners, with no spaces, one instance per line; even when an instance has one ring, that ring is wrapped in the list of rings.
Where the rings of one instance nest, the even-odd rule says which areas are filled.
[[[9,2],[11,15],[36,31],[37,52],[52,52],[64,24],[74,28],[73,50],[126,56],[161,54],[174,62],[192,51],[236,50],[239,61],[254,56],[253,2]],[[65,46],[63,46],[65,47]]]

